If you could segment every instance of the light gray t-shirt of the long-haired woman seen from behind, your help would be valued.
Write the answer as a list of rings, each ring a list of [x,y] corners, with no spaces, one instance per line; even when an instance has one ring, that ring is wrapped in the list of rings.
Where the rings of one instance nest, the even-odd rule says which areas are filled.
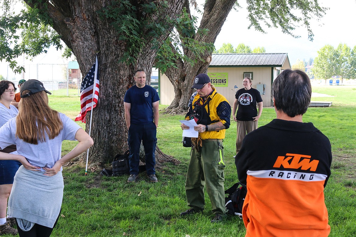
[[[46,135],[46,141],[38,141],[37,145],[24,142],[15,137],[16,119],[10,119],[0,128],[0,149],[15,144],[17,153],[25,156],[31,165],[52,168],[54,163],[61,158],[62,141],[75,140],[75,133],[80,129],[80,126],[66,115],[59,113],[59,117],[63,122],[63,129],[59,135],[54,139],[49,139]],[[41,171],[44,170],[41,169]]]

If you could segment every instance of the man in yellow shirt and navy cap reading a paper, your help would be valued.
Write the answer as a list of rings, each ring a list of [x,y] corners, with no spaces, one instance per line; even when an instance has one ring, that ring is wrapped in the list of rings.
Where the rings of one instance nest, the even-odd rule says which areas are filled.
[[[231,106],[226,98],[216,92],[206,74],[199,74],[194,79],[192,88],[197,90],[193,103],[185,120],[195,119],[199,132],[198,139],[193,141],[194,150],[185,181],[185,193],[190,209],[180,213],[181,216],[203,212],[204,186],[211,201],[215,217],[212,223],[220,222],[226,215],[224,193],[224,149],[225,131],[230,126]],[[182,129],[189,129],[181,124]]]

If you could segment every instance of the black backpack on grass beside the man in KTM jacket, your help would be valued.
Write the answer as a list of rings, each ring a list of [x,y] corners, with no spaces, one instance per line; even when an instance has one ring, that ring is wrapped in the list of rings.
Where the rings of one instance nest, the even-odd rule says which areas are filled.
[[[227,214],[239,216],[240,219],[242,219],[242,206],[244,205],[247,194],[246,185],[240,182],[235,183],[231,188],[225,191],[225,194],[227,194],[225,197]]]

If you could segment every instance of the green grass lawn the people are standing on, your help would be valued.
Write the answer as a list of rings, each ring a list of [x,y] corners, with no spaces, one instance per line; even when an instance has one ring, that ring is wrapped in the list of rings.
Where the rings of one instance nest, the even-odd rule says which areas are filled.
[[[356,86],[319,86],[313,87],[313,92],[334,96],[313,97],[312,101],[332,101],[333,106],[309,108],[303,117],[304,122],[314,123],[328,136],[332,146],[332,174],[325,188],[330,236],[356,236]],[[69,117],[74,119],[79,113],[79,97],[49,98],[52,108]],[[221,223],[210,223],[213,216],[207,195],[204,214],[179,216],[181,211],[187,209],[184,183],[190,149],[181,143],[182,130],[178,120],[183,116],[164,114],[166,107],[160,106],[158,146],[181,163],[158,167],[158,183],[148,182],[143,173],[134,184],[126,182],[127,176],[101,177],[99,172],[89,172],[88,176],[84,176],[85,167],[65,167],[62,216],[53,236],[245,235],[244,224],[239,218],[230,217]],[[274,108],[264,108],[259,126],[275,117]],[[224,140],[225,189],[237,182],[232,158],[235,155],[235,140],[236,123],[232,122]],[[72,149],[74,144],[64,143],[63,153]]]

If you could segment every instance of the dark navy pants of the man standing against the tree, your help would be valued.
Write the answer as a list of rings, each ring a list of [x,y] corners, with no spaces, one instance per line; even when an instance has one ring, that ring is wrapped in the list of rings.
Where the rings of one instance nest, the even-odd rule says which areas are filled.
[[[147,175],[156,174],[155,165],[155,151],[157,144],[157,128],[155,123],[145,125],[131,124],[129,128],[129,137],[127,143],[129,144],[130,156],[130,174],[138,174],[138,166],[140,164],[140,145],[145,148],[146,157],[146,171]]]

